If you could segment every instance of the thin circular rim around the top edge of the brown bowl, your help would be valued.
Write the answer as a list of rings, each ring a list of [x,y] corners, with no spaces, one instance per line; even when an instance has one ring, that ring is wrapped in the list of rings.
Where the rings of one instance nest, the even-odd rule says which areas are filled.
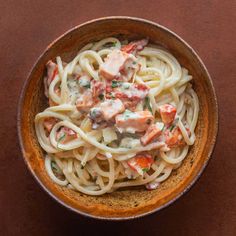
[[[24,142],[23,142],[23,138],[22,138],[22,134],[21,134],[21,117],[22,117],[22,108],[24,105],[24,99],[25,99],[25,94],[26,94],[26,90],[27,87],[29,85],[30,82],[30,75],[33,73],[35,66],[38,64],[38,62],[40,61],[40,59],[44,56],[44,54],[50,50],[51,46],[54,45],[55,43],[57,43],[59,40],[61,40],[64,36],[66,36],[67,34],[72,33],[73,31],[76,31],[78,28],[81,27],[85,27],[86,25],[90,25],[93,24],[95,22],[102,22],[102,21],[109,21],[109,20],[131,20],[131,21],[135,21],[135,22],[142,22],[142,23],[146,23],[147,25],[152,25],[154,27],[160,28],[162,30],[164,30],[165,32],[171,34],[172,36],[175,37],[175,39],[179,40],[182,44],[184,44],[184,46],[197,58],[197,60],[200,62],[200,65],[203,69],[203,71],[206,73],[212,92],[213,92],[213,102],[214,102],[214,106],[215,106],[215,123],[213,124],[214,126],[214,135],[213,135],[213,139],[211,142],[211,145],[209,146],[209,150],[208,150],[208,155],[206,158],[206,161],[203,163],[203,165],[201,166],[200,170],[198,171],[198,173],[196,174],[196,176],[192,179],[192,181],[186,185],[186,187],[184,188],[183,191],[181,191],[178,195],[176,195],[174,198],[172,198],[170,201],[168,201],[167,203],[165,203],[164,205],[161,205],[160,207],[157,207],[155,209],[149,210],[145,213],[141,213],[141,214],[137,214],[134,216],[125,216],[125,217],[104,217],[104,216],[97,216],[97,215],[93,215],[90,213],[86,213],[82,210],[76,209],[72,206],[70,206],[68,203],[62,201],[59,197],[55,196],[53,194],[53,192],[51,192],[38,178],[38,176],[34,173],[34,171],[32,170],[29,162],[26,160],[25,157],[25,152],[24,152]],[[139,17],[131,17],[131,16],[107,16],[107,17],[100,17],[100,18],[95,18],[89,21],[86,21],[82,24],[76,25],[72,28],[70,28],[69,30],[67,30],[66,32],[64,32],[63,34],[61,34],[59,37],[57,37],[55,40],[53,40],[47,47],[46,49],[43,50],[43,52],[37,57],[36,61],[34,62],[33,66],[31,67],[30,71],[27,74],[27,78],[23,83],[23,86],[21,87],[21,92],[20,92],[20,96],[19,96],[19,101],[17,104],[17,135],[18,135],[18,140],[20,143],[20,149],[21,149],[21,154],[23,156],[23,160],[27,166],[27,168],[29,169],[30,173],[33,175],[33,177],[36,179],[36,181],[38,182],[38,184],[41,186],[42,189],[44,189],[47,194],[49,194],[49,196],[51,196],[54,200],[56,200],[57,202],[59,202],[62,206],[64,206],[65,208],[71,210],[72,212],[75,212],[77,214],[83,215],[85,217],[89,217],[89,218],[93,218],[93,219],[98,219],[98,220],[108,220],[108,221],[124,221],[124,220],[132,220],[132,219],[137,219],[137,218],[141,218],[150,214],[153,214],[155,212],[158,212],[164,208],[166,208],[167,206],[170,206],[171,204],[173,204],[176,200],[178,200],[181,196],[183,196],[185,193],[187,193],[190,188],[197,182],[197,180],[200,178],[200,176],[202,175],[203,171],[205,170],[205,168],[207,167],[207,165],[209,164],[209,161],[212,157],[214,148],[215,148],[215,144],[216,144],[216,139],[217,139],[217,134],[218,134],[218,129],[219,129],[219,115],[218,115],[218,102],[217,102],[217,96],[216,96],[216,92],[215,92],[215,88],[211,79],[211,76],[205,66],[205,64],[203,63],[202,59],[199,57],[199,55],[197,54],[197,52],[185,41],[183,40],[178,34],[176,34],[175,32],[173,32],[172,30],[170,30],[169,28],[156,23],[154,21],[150,21],[147,19],[143,19],[143,18],[139,18]]]

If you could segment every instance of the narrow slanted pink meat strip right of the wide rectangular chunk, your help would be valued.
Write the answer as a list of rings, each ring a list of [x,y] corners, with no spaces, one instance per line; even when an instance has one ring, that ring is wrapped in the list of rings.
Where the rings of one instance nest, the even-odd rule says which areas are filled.
[[[144,134],[144,136],[142,136],[140,139],[141,144],[146,146],[147,144],[154,141],[155,138],[161,135],[163,128],[164,128],[164,124],[160,122],[150,125],[146,133]]]

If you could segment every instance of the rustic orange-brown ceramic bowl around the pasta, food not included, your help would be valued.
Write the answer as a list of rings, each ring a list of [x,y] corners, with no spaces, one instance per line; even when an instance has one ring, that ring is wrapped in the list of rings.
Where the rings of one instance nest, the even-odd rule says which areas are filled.
[[[167,48],[193,75],[200,102],[196,142],[180,168],[160,188],[118,190],[103,196],[87,196],[54,184],[48,177],[43,151],[34,130],[34,117],[46,107],[43,74],[48,60],[60,55],[67,61],[85,44],[109,36],[140,39]],[[156,212],[185,193],[201,175],[212,153],[218,129],[217,100],[207,69],[196,52],[179,36],[156,23],[132,17],[106,17],[79,25],[51,43],[26,80],[19,103],[18,135],[24,160],[38,183],[55,200],[85,216],[98,219],[132,219]]]

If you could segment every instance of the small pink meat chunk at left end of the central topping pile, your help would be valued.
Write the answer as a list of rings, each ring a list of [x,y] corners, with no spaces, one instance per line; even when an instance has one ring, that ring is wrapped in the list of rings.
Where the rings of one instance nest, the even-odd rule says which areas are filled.
[[[86,112],[94,105],[93,94],[90,90],[86,90],[79,96],[76,101],[76,108],[78,111]]]

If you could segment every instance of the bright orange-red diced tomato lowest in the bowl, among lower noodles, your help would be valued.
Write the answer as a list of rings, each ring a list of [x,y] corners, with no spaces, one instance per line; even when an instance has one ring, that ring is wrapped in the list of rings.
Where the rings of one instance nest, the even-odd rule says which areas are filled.
[[[135,157],[128,160],[127,164],[132,170],[138,172],[140,175],[143,175],[144,172],[150,170],[153,162],[154,160],[151,155],[138,154]]]

